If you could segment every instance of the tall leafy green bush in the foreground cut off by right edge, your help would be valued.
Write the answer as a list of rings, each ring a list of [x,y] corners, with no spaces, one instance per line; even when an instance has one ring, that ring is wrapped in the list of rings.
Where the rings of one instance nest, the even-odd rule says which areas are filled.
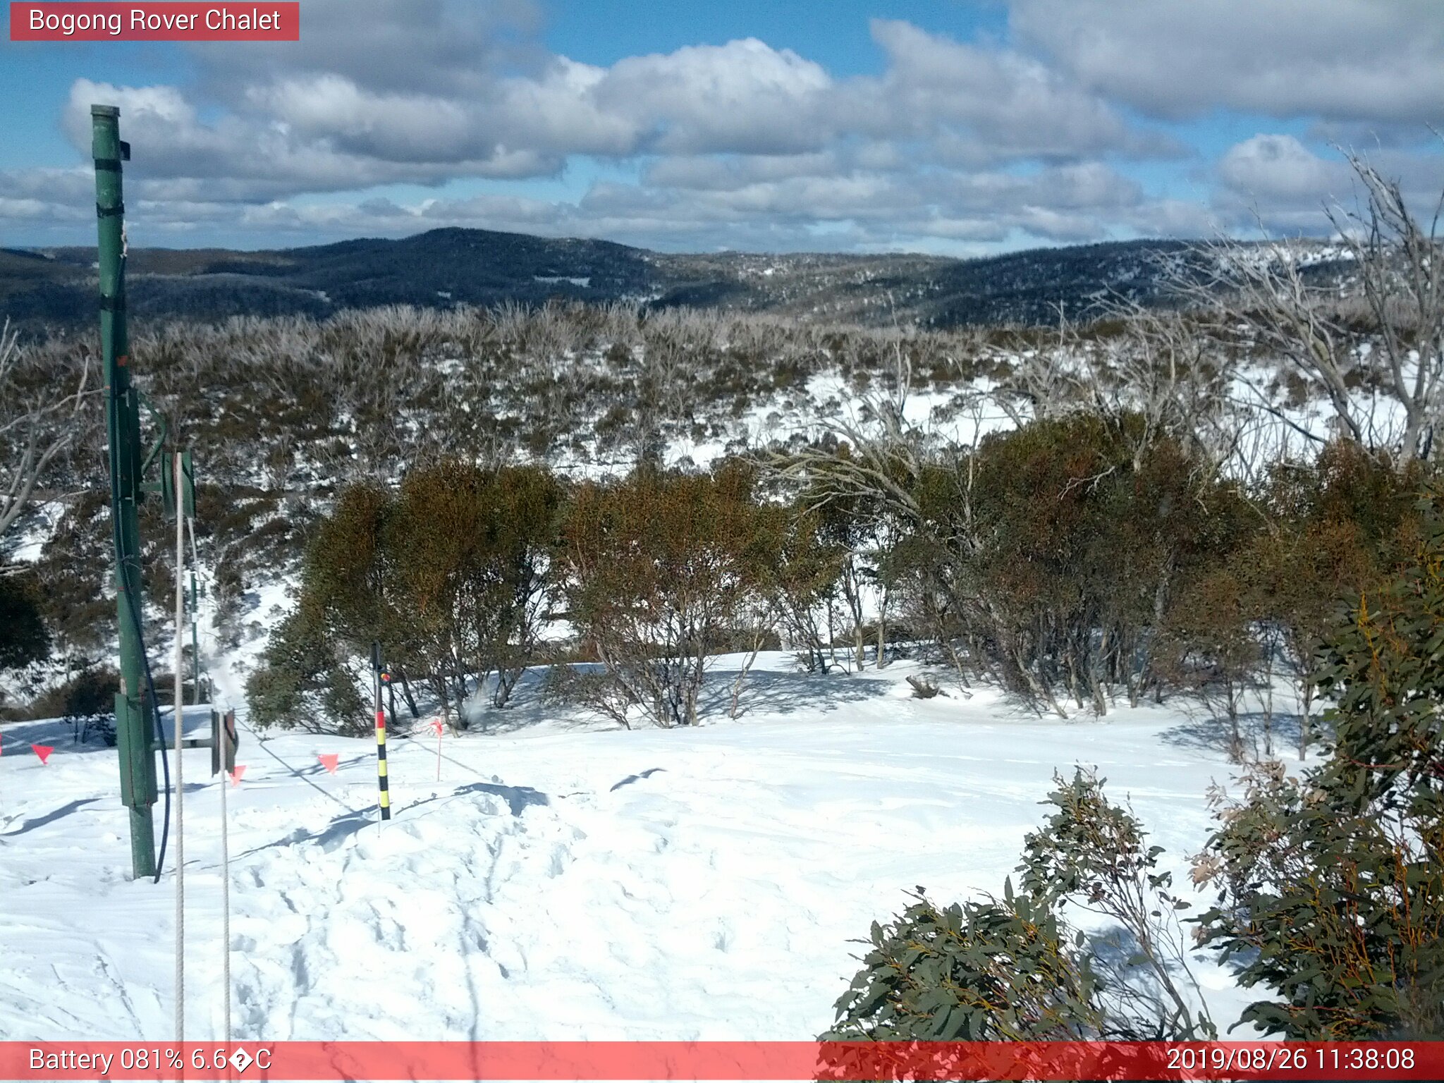
[[[1255,768],[1194,872],[1220,887],[1201,940],[1276,996],[1243,1019],[1288,1038],[1444,1034],[1444,497],[1419,513],[1414,557],[1321,651],[1328,758]]]

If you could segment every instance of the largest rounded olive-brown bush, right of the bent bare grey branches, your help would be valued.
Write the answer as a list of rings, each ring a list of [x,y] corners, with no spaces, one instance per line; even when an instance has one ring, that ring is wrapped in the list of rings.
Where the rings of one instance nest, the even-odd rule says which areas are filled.
[[[1063,713],[1135,702],[1158,680],[1162,612],[1181,579],[1245,533],[1232,487],[1210,481],[1144,419],[1047,417],[920,466],[895,575],[979,676]]]

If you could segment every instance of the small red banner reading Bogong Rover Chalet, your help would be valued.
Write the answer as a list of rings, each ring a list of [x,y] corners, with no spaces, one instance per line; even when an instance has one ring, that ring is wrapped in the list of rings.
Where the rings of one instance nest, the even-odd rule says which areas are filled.
[[[12,42],[299,42],[290,3],[12,3]]]

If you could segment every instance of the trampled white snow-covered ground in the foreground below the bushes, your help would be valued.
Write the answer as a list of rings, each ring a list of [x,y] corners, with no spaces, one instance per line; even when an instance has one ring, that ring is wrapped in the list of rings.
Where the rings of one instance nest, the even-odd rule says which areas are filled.
[[[374,742],[243,732],[235,1035],[810,1038],[856,970],[851,941],[914,885],[1001,892],[1073,764],[1131,799],[1190,882],[1204,790],[1230,775],[1206,725],[1158,708],[1041,721],[988,690],[917,700],[917,671],[807,676],[764,656],[744,716],[696,729],[518,708],[443,738],[439,780],[435,738],[393,738],[387,825]],[[0,739],[0,1038],[172,1037],[173,878],[169,861],[159,885],[129,878],[114,751],[56,722]],[[55,745],[49,764],[30,742]],[[221,1032],[208,771],[186,752],[192,1038]],[[1197,975],[1226,1027],[1251,996],[1212,962]]]

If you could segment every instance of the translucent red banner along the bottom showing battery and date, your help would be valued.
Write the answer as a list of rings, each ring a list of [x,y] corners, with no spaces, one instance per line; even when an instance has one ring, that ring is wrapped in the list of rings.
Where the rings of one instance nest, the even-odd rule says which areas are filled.
[[[1444,1043],[0,1043],[0,1079],[1438,1080]]]

